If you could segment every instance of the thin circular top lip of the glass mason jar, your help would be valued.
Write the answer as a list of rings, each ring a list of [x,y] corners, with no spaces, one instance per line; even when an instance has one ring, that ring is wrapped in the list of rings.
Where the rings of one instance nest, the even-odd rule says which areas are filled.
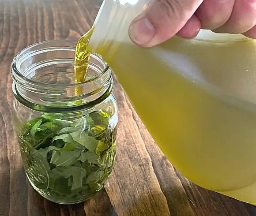
[[[41,41],[41,42],[38,42],[38,43],[34,43],[32,45],[29,45],[27,46],[26,48],[23,48],[22,50],[20,50],[13,58],[12,60],[12,63],[11,63],[11,69],[12,71],[15,73],[15,75],[17,75],[21,80],[27,82],[27,83],[30,83],[30,84],[34,84],[34,85],[37,85],[37,86],[49,86],[49,87],[78,87],[78,86],[81,86],[83,84],[90,84],[90,83],[93,83],[95,81],[98,81],[99,79],[102,78],[102,76],[104,76],[104,74],[110,69],[109,67],[109,64],[106,63],[103,59],[102,59],[102,56],[100,56],[99,54],[97,53],[91,53],[90,55],[93,56],[95,59],[101,61],[102,63],[104,63],[105,67],[104,69],[102,70],[101,73],[97,74],[95,77],[89,79],[89,80],[86,80],[86,81],[83,81],[83,82],[78,82],[78,83],[71,83],[71,84],[52,84],[52,83],[41,83],[41,82],[37,82],[35,80],[32,80],[30,78],[27,78],[26,76],[24,76],[22,73],[20,73],[20,71],[18,70],[17,68],[17,61],[19,61],[19,59],[22,59],[22,56],[25,55],[25,53],[30,50],[31,48],[34,48],[34,47],[37,47],[37,46],[40,46],[40,45],[45,45],[45,44],[49,44],[48,48],[54,48],[56,46],[50,46],[51,43],[56,43],[56,42],[60,42],[60,43],[77,43],[78,41],[73,41],[73,40],[47,40],[47,41]],[[68,46],[62,46],[63,48],[64,47],[68,47]],[[60,47],[58,47],[60,48]],[[26,53],[27,54],[27,53]],[[12,75],[13,76],[13,75]]]

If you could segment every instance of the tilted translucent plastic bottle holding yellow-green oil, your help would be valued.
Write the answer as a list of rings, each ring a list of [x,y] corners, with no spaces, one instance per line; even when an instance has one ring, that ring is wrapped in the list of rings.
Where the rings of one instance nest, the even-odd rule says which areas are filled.
[[[88,48],[113,68],[169,161],[197,185],[256,204],[256,40],[201,30],[139,48],[147,0],[105,0]]]

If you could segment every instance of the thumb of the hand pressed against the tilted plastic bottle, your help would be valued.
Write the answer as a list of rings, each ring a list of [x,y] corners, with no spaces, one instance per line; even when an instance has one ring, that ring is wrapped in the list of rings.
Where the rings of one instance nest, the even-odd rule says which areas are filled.
[[[188,21],[186,29],[189,26],[199,26],[196,29],[198,33],[200,22],[193,14],[202,2],[203,0],[154,0],[132,21],[129,36],[139,46],[152,47],[173,37]]]

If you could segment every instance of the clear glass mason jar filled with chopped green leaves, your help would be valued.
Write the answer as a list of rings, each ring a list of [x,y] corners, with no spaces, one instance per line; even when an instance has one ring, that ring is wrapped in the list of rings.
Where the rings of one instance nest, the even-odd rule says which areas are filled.
[[[11,67],[14,126],[27,178],[39,194],[60,204],[85,201],[101,190],[116,156],[112,71],[92,54],[86,81],[75,83],[75,46],[34,44]]]

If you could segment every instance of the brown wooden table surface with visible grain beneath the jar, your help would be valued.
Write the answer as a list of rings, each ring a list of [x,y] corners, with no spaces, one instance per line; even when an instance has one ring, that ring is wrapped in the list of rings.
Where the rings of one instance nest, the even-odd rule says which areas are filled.
[[[117,82],[117,160],[105,189],[83,204],[68,206],[45,200],[27,183],[11,124],[11,60],[39,41],[78,40],[92,25],[100,4],[101,0],[0,0],[0,216],[256,216],[256,207],[182,177]]]

